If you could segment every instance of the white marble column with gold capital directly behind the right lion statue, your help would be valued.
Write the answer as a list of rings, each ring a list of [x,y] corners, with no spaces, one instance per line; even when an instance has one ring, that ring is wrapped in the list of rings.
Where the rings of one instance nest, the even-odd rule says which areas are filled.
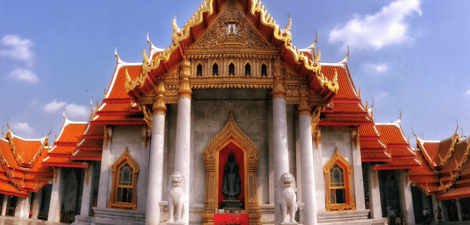
[[[274,60],[274,90],[273,93],[273,143],[274,143],[274,222],[279,225],[282,221],[281,193],[279,178],[289,172],[289,152],[287,143],[286,90],[284,89],[284,73],[282,60]],[[303,176],[302,176],[303,177]],[[304,178],[304,177],[303,177]]]

